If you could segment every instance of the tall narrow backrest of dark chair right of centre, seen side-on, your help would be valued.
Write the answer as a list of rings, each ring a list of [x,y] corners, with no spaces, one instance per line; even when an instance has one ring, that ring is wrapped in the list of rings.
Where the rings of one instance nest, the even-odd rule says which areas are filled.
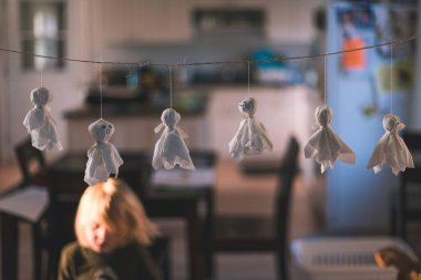
[[[279,169],[278,187],[275,200],[276,236],[279,238],[280,248],[286,248],[288,238],[288,217],[294,178],[298,170],[299,144],[296,137],[289,138],[288,148]]]

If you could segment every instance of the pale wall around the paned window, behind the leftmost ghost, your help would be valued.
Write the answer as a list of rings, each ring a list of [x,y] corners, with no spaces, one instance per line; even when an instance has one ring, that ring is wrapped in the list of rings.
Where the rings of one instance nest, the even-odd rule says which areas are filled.
[[[21,50],[20,45],[20,23],[19,23],[19,1],[8,1],[8,49]],[[89,22],[90,1],[68,1],[68,41],[65,55],[69,58],[91,59],[92,42]],[[3,137],[2,144],[8,147],[4,149],[3,162],[13,158],[13,145],[27,136],[27,129],[22,121],[27,112],[32,107],[30,102],[30,92],[40,86],[41,73],[37,71],[22,70],[21,55],[16,53],[2,53],[4,64],[2,68],[8,69],[7,89],[2,94],[2,101],[6,101],[6,123],[4,128],[7,136]],[[82,104],[83,91],[86,82],[90,80],[92,65],[86,63],[66,62],[62,71],[44,71],[43,86],[50,90],[53,95],[51,104],[52,115],[59,124],[59,132],[63,146],[66,144],[65,122],[62,113],[65,110]],[[3,143],[3,141],[6,143]],[[48,156],[54,156],[57,152],[49,152]]]

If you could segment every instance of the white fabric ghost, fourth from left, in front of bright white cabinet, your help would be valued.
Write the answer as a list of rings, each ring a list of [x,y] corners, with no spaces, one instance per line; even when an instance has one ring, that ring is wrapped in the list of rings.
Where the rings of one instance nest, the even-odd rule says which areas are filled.
[[[261,154],[264,149],[271,151],[274,145],[266,135],[265,126],[255,118],[257,102],[248,97],[238,104],[238,110],[244,118],[237,133],[229,142],[229,154],[236,160],[243,159],[244,155]]]

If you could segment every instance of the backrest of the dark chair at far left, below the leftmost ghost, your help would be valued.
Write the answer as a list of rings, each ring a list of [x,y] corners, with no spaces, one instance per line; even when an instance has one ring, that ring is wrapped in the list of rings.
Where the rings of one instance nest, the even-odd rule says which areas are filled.
[[[47,169],[44,156],[41,151],[32,146],[31,137],[18,143],[14,146],[19,168],[23,176],[23,183],[37,183],[37,175]]]

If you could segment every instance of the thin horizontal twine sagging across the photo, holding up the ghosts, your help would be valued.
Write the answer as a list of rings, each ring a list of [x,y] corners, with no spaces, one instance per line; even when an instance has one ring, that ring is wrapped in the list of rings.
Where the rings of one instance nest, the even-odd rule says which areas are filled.
[[[419,38],[421,38],[421,35],[413,35],[413,37],[398,39],[398,40],[390,41],[390,42],[372,44],[372,45],[361,46],[361,48],[357,48],[357,49],[347,49],[347,50],[341,50],[341,51],[336,51],[336,52],[326,52],[326,53],[311,54],[311,55],[299,55],[299,56],[279,56],[279,58],[267,59],[267,60],[253,60],[250,62],[258,64],[258,63],[274,62],[274,61],[276,62],[276,61],[289,61],[289,60],[316,59],[316,58],[336,55],[336,54],[341,54],[341,53],[347,53],[347,52],[356,52],[356,51],[362,51],[362,50],[368,50],[368,49],[374,49],[374,48],[380,48],[383,45],[407,43],[407,42],[412,41],[412,40],[418,40]],[[71,58],[65,58],[65,56],[41,55],[41,54],[37,54],[37,53],[17,51],[17,50],[11,50],[11,49],[6,49],[6,48],[0,48],[0,51],[20,53],[20,54],[32,55],[32,56],[37,56],[37,58],[64,60],[64,61],[73,61],[73,62],[84,62],[84,63],[97,63],[97,64],[101,63],[101,64],[115,64],[115,65],[131,64],[131,65],[138,65],[140,68],[144,66],[145,64],[148,64],[151,66],[170,66],[170,65],[172,65],[171,63],[143,63],[143,64],[141,64],[138,62],[80,60],[80,59],[71,59]],[[244,64],[247,61],[212,61],[212,62],[176,63],[176,65],[177,66],[195,66],[195,65],[213,65],[213,64]]]

